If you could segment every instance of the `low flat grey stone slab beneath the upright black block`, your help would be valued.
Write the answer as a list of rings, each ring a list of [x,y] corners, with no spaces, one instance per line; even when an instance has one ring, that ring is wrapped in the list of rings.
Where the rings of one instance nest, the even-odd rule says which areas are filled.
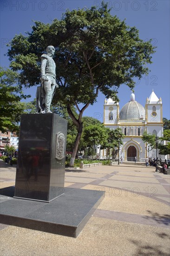
[[[102,191],[64,188],[52,202],[14,198],[14,186],[0,189],[0,223],[77,237],[103,200]]]

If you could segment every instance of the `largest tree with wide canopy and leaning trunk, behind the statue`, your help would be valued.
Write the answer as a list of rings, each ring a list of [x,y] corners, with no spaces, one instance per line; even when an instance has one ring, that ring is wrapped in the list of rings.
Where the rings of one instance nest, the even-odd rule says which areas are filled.
[[[139,38],[136,27],[112,16],[104,2],[99,8],[66,10],[61,20],[54,19],[52,24],[36,21],[31,33],[16,35],[11,41],[8,56],[11,67],[20,70],[21,84],[39,84],[40,56],[48,45],[56,49],[59,89],[53,102],[67,106],[78,129],[70,162],[73,166],[85,109],[95,103],[99,90],[118,101],[121,84],[133,89],[134,78],[148,74],[154,47],[151,40]],[[78,117],[72,106],[77,108]]]

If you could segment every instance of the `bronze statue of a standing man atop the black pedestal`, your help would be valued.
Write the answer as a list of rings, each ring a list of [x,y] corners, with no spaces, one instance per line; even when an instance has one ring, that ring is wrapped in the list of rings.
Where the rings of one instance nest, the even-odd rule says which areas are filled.
[[[45,106],[46,113],[52,113],[50,105],[52,102],[55,88],[58,88],[56,84],[56,65],[52,57],[54,56],[55,48],[50,45],[46,47],[46,54],[41,55],[41,85],[45,91]],[[45,113],[45,111],[39,111]]]

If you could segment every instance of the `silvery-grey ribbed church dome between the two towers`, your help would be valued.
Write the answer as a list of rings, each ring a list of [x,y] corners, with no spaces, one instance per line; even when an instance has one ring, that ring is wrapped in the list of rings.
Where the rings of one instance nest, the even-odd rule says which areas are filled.
[[[134,99],[135,94],[131,94],[131,101],[126,103],[120,111],[120,121],[142,121],[145,118],[144,107]]]

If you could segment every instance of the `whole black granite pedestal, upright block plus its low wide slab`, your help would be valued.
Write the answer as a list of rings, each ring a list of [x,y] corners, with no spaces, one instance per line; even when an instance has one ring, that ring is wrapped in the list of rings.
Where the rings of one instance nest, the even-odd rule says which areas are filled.
[[[15,187],[0,189],[0,223],[71,237],[83,229],[104,195],[64,188],[66,130],[58,115],[22,115]]]

